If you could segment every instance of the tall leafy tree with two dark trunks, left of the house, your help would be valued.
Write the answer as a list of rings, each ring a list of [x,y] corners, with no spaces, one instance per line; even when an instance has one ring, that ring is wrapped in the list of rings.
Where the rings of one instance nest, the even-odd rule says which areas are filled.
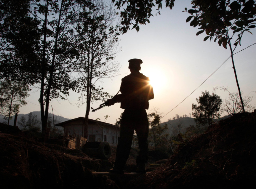
[[[40,21],[40,107],[42,135],[46,140],[49,101],[53,98],[67,96],[69,90],[75,90],[77,82],[70,78],[70,67],[74,58],[79,57],[79,47],[75,41],[77,34],[72,27],[78,22],[78,15],[87,16],[85,8],[88,1],[45,0],[31,2],[30,12]],[[44,109],[45,106],[45,109]]]

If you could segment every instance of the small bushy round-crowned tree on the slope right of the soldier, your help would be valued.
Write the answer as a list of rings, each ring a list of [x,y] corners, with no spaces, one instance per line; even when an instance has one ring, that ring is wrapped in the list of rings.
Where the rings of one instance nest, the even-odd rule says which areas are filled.
[[[206,128],[212,125],[220,117],[219,110],[222,103],[220,97],[209,91],[202,92],[202,96],[196,98],[198,105],[192,104],[192,115],[198,127]]]

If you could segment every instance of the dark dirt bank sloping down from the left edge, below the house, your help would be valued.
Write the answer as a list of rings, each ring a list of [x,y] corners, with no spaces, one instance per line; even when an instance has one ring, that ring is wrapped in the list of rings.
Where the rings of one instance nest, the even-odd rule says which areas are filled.
[[[0,183],[1,188],[104,188],[116,184],[97,178],[92,171],[108,171],[111,161],[93,159],[81,150],[44,144],[11,133],[1,125]],[[4,133],[7,132],[7,133]]]

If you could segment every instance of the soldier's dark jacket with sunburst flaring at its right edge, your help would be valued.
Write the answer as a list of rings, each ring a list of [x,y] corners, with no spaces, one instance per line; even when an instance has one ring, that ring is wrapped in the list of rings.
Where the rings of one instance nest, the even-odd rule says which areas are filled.
[[[122,79],[120,92],[114,97],[115,102],[121,102],[122,109],[148,109],[148,100],[154,98],[153,88],[149,78],[141,73],[131,73]]]

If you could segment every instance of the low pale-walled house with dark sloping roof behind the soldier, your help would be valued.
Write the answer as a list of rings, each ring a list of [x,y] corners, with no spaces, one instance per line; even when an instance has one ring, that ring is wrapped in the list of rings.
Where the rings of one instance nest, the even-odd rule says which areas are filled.
[[[69,139],[69,148],[82,148],[86,141],[107,141],[111,146],[117,145],[120,127],[92,119],[88,120],[87,128],[84,123],[85,117],[78,117],[56,124],[64,127],[64,136]]]

